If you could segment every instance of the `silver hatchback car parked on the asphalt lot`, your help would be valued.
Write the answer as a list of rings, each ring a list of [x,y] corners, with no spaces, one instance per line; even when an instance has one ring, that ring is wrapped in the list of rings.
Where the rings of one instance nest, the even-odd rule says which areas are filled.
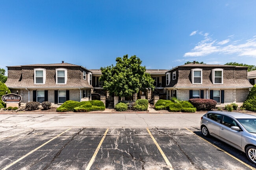
[[[237,112],[210,111],[201,117],[201,132],[245,152],[256,165],[256,116]]]

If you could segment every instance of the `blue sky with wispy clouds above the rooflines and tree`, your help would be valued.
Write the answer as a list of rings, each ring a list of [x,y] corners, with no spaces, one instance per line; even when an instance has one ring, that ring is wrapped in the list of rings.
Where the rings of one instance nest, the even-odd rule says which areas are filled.
[[[255,0],[1,0],[0,68],[88,69],[136,55],[147,69],[187,61],[256,65]]]

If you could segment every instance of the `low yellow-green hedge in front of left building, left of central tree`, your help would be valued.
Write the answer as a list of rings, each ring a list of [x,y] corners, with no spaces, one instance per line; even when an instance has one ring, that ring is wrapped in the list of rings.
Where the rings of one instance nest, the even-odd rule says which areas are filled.
[[[57,108],[57,112],[90,112],[96,110],[105,110],[102,101],[66,101]]]

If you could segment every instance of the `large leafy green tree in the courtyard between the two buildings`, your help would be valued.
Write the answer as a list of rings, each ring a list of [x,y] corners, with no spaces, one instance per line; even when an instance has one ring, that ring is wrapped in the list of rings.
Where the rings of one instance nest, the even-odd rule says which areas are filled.
[[[100,81],[104,82],[103,88],[110,94],[119,97],[131,97],[139,91],[154,90],[154,80],[146,73],[146,67],[141,66],[142,61],[133,55],[128,58],[116,58],[116,65],[101,67]]]

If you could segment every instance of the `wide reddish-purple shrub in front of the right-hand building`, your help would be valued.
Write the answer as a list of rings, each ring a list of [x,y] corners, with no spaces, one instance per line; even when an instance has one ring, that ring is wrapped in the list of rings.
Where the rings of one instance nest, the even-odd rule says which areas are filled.
[[[197,110],[213,110],[217,102],[212,99],[189,99]]]

